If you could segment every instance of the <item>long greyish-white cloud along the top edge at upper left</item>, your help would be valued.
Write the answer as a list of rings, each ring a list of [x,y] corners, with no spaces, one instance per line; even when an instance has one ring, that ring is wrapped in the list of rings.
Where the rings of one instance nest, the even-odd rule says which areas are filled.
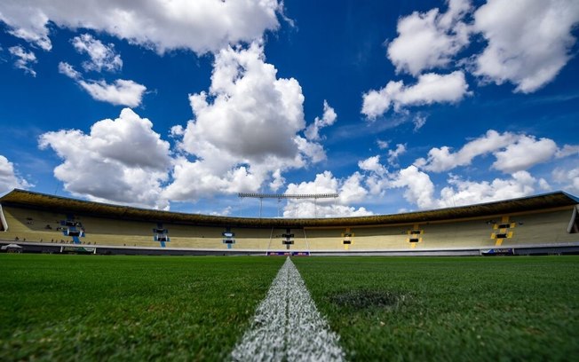
[[[49,21],[60,28],[107,32],[156,51],[189,49],[198,54],[226,44],[250,42],[279,27],[276,0],[20,0],[0,2],[0,20],[12,35],[50,50]]]

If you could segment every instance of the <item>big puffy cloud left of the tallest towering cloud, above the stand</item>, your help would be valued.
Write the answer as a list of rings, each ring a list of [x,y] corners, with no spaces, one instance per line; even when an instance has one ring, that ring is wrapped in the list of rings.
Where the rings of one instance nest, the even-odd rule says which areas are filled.
[[[119,118],[102,120],[81,130],[59,130],[40,136],[63,160],[54,176],[65,189],[92,201],[166,209],[162,184],[171,167],[169,143],[153,123],[125,108]]]

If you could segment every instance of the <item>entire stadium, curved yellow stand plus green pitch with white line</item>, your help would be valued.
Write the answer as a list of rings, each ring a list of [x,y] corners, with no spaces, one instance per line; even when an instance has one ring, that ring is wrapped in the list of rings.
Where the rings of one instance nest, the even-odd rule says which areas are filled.
[[[3,360],[579,356],[567,193],[303,219],[0,203]]]

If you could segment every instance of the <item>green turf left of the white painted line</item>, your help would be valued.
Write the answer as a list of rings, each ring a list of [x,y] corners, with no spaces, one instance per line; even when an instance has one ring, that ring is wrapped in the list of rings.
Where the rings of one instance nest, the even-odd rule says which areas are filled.
[[[222,360],[283,261],[0,255],[0,360]]]

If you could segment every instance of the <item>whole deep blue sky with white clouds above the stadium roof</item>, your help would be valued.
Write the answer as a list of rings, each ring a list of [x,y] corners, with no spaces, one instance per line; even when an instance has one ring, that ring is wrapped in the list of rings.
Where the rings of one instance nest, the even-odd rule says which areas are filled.
[[[0,193],[362,216],[579,194],[579,3],[0,4]]]

